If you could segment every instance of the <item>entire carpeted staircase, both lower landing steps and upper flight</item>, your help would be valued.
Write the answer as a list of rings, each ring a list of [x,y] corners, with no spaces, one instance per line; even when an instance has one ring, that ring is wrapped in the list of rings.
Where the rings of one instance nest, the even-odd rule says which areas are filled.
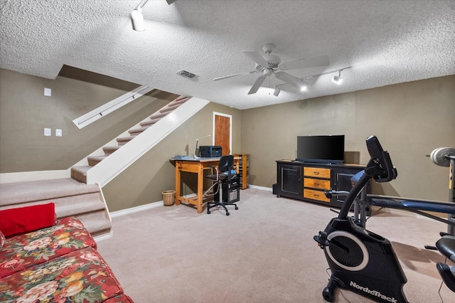
[[[169,102],[139,123],[140,127],[130,129],[129,136],[117,138],[117,146],[103,147],[104,155],[88,156],[88,165],[73,166],[71,178],[0,184],[0,210],[53,202],[58,218],[76,216],[95,237],[109,235],[111,219],[102,190],[97,184],[87,184],[87,171],[189,99]]]

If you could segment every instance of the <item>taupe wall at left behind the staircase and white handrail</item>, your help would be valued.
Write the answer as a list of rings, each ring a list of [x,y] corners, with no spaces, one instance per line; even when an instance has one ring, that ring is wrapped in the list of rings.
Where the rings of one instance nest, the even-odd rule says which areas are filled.
[[[87,72],[75,77],[87,80],[77,80],[65,71],[50,80],[0,70],[0,173],[68,169],[176,97],[151,91],[78,129],[73,119],[139,85]],[[52,96],[44,96],[45,87]],[[45,127],[51,137],[44,136]],[[55,137],[55,129],[63,137]]]

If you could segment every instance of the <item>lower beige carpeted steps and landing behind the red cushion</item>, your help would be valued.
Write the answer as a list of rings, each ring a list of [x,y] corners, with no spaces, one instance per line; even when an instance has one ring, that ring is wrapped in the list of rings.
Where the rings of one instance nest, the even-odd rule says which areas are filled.
[[[0,210],[50,202],[55,203],[57,218],[76,216],[94,236],[110,232],[100,186],[70,178],[0,184]]]

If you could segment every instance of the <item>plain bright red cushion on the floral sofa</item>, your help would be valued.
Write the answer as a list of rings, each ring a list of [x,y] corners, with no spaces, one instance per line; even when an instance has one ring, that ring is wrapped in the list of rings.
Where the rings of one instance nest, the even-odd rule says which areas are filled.
[[[0,211],[0,230],[6,237],[55,225],[54,203]]]

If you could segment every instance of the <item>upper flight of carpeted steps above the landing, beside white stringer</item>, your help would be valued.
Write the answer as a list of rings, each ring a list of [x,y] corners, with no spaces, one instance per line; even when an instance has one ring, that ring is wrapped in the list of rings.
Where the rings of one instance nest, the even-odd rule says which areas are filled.
[[[114,151],[117,151],[117,149],[121,148],[124,144],[127,144],[128,142],[130,142],[132,139],[137,137],[137,135],[141,134],[141,132],[144,132],[144,130],[151,127],[153,124],[158,122],[160,119],[162,119],[163,117],[168,115],[170,112],[175,110],[177,107],[181,106],[183,103],[185,103],[189,99],[190,99],[190,97],[178,97],[176,100],[169,102],[168,105],[161,107],[160,110],[156,111],[149,118],[147,118],[143,122],[139,123],[139,126],[140,126],[139,128],[129,129],[129,131],[128,131],[129,136],[118,137],[116,146],[103,147],[102,150],[105,153],[104,155],[88,156],[87,157],[88,165],[73,166],[71,168],[71,178],[86,184],[87,183],[87,171],[89,169],[91,169],[96,164],[100,163],[100,161],[106,159],[106,157],[109,156],[109,154],[112,154]]]

